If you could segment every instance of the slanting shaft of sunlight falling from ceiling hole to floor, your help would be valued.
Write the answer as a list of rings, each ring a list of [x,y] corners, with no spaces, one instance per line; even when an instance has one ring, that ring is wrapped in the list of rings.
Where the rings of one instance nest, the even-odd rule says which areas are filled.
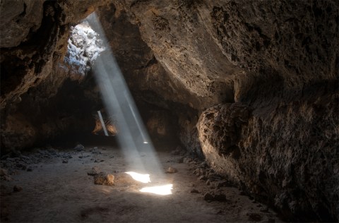
[[[95,13],[88,16],[86,20],[93,30],[100,35],[103,46],[106,49],[100,56],[97,56],[93,66],[93,73],[109,115],[117,117],[117,126],[119,128],[117,139],[122,147],[122,152],[124,152],[126,162],[131,168],[129,173],[138,173],[138,176],[147,176],[149,174],[149,181],[154,181],[153,179],[155,179],[156,183],[165,183],[165,185],[142,188],[141,192],[160,195],[170,194],[172,193],[172,184],[168,186],[168,182],[160,182],[160,179],[165,179],[162,166],[155,155],[153,143],[151,143],[141,116],[136,109],[133,97],[131,97],[117,61],[110,50],[100,21]],[[148,179],[141,180],[148,181]]]

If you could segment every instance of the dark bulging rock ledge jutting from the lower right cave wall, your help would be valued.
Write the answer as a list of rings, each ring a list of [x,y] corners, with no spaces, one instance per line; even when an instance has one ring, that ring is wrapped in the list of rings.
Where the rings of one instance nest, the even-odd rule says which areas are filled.
[[[244,104],[201,114],[199,139],[215,171],[295,219],[338,217],[338,93],[281,102],[261,116]]]

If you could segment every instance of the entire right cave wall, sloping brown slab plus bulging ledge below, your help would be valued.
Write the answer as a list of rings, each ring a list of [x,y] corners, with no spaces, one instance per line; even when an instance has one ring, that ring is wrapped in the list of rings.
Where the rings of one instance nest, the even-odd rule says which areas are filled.
[[[189,150],[287,219],[338,219],[338,1],[114,4],[196,97]]]

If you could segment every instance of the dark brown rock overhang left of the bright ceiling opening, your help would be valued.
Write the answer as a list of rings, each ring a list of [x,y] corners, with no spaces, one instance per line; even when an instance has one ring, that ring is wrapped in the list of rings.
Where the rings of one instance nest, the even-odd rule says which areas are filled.
[[[103,1],[1,1],[1,103],[18,102],[62,59],[69,24]],[[74,13],[76,11],[78,13]]]

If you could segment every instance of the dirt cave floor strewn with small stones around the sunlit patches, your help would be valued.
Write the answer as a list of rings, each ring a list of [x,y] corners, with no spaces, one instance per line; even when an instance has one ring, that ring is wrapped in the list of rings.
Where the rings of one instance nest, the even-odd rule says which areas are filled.
[[[266,205],[227,186],[204,162],[180,151],[157,156],[164,173],[177,169],[164,174],[172,194],[142,193],[145,183],[119,182],[129,167],[114,147],[51,148],[4,157],[1,222],[282,222]],[[114,175],[115,185],[95,184],[88,175],[93,167]]]

